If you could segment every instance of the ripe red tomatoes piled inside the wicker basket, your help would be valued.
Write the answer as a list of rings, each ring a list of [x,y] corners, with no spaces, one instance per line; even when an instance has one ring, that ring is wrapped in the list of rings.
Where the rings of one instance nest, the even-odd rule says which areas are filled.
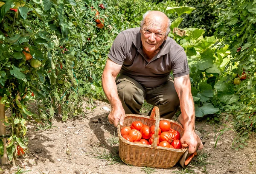
[[[154,139],[155,125],[149,127],[141,121],[134,121],[131,126],[124,126],[121,135],[125,140],[139,144],[152,144]],[[157,146],[182,149],[180,132],[171,128],[167,120],[161,120],[158,128]]]

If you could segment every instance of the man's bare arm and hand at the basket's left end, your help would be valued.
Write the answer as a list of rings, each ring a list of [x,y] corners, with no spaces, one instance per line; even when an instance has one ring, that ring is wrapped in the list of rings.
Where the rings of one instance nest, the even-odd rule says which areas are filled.
[[[112,108],[108,115],[108,120],[111,124],[114,124],[114,126],[117,126],[118,122],[122,126],[125,116],[125,111],[117,94],[115,82],[121,67],[122,65],[118,65],[111,59],[108,59],[102,74],[102,87]]]

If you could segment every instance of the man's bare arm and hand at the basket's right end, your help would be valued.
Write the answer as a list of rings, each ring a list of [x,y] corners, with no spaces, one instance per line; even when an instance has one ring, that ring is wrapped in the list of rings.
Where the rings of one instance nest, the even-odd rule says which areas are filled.
[[[203,149],[203,144],[195,134],[195,106],[189,75],[177,77],[174,81],[175,90],[180,98],[181,115],[178,121],[184,126],[184,134],[180,141],[189,145],[189,153],[194,153],[197,149]]]

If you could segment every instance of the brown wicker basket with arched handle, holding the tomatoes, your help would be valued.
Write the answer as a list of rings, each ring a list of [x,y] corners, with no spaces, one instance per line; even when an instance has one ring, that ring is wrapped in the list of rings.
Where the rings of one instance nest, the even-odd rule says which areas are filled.
[[[123,126],[131,126],[134,121],[141,121],[143,124],[155,125],[155,132],[158,132],[159,122],[167,120],[171,123],[171,128],[183,135],[184,129],[177,121],[160,118],[158,107],[154,107],[150,117],[144,115],[126,114]],[[125,140],[121,135],[122,127],[118,124],[117,131],[119,136],[119,156],[126,164],[134,166],[147,166],[154,168],[171,168],[180,160],[182,155],[187,151],[184,149],[173,149],[157,146],[158,134],[154,134],[151,145],[131,143]]]

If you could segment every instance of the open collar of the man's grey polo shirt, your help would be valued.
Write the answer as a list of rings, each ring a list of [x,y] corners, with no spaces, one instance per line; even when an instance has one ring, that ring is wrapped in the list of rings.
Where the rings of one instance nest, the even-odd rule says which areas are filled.
[[[141,33],[140,33],[140,27],[138,27],[138,31],[134,35],[134,39],[132,40],[134,46],[138,50],[142,50],[142,42],[140,39]],[[168,36],[167,39],[163,42],[163,44],[160,46],[160,56],[163,56],[171,51],[171,38]]]

